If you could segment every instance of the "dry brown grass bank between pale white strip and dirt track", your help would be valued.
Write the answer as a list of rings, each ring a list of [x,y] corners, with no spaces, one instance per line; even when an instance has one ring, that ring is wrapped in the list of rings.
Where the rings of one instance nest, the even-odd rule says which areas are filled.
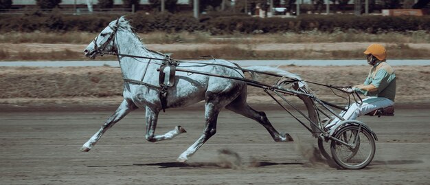
[[[282,67],[289,72],[299,74],[305,80],[329,85],[363,83],[369,68],[369,66]],[[401,89],[397,91],[396,103],[430,101],[428,85],[430,66],[395,66],[394,68],[398,80],[397,88]],[[410,79],[414,79],[414,83],[410,83]],[[278,78],[262,75],[258,80],[273,84]],[[0,87],[2,87],[0,99],[3,101],[4,98],[67,98],[63,101],[70,102],[68,98],[117,97],[122,95],[123,86],[121,70],[117,67],[0,67]],[[333,96],[332,91],[326,87],[310,84],[310,88],[323,100],[343,102],[341,98]],[[249,87],[248,94],[256,97],[253,100],[256,102],[273,102],[262,89],[257,87]],[[297,100],[294,97],[291,99]],[[87,103],[86,99],[79,101]]]

